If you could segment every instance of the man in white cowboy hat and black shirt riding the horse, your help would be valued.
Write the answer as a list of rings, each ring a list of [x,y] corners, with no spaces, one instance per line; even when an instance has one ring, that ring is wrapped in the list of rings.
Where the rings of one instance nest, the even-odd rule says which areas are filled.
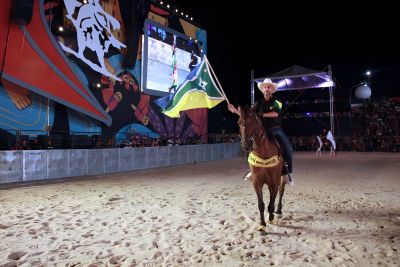
[[[279,146],[282,148],[283,156],[285,158],[284,166],[287,173],[287,183],[289,185],[294,185],[290,175],[292,173],[293,166],[293,148],[282,129],[282,122],[279,118],[279,113],[282,110],[282,102],[273,96],[273,93],[275,93],[278,89],[278,84],[267,78],[257,85],[264,97],[256,101],[253,109],[255,109],[260,118],[262,118],[263,125],[266,130],[274,136],[274,138],[278,141]],[[240,116],[239,110],[232,104],[228,103],[228,109],[232,113]],[[250,173],[247,174],[248,177],[250,175]]]

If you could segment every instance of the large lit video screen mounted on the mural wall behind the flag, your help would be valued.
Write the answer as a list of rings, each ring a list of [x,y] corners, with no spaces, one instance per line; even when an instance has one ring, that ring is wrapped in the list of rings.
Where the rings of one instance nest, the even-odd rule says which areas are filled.
[[[174,93],[201,62],[198,43],[150,20],[144,27],[142,91],[155,96]]]

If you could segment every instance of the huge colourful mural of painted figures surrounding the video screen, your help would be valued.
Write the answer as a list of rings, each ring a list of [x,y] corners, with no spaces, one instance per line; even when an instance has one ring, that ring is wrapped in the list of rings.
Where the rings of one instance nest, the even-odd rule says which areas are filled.
[[[145,19],[201,40],[203,50],[204,30],[170,24],[174,14],[149,1],[34,0],[26,25],[15,23],[12,5],[4,0],[0,10],[0,149],[16,137],[65,135],[102,136],[112,146],[133,137],[207,142],[207,109],[172,119],[141,88]]]

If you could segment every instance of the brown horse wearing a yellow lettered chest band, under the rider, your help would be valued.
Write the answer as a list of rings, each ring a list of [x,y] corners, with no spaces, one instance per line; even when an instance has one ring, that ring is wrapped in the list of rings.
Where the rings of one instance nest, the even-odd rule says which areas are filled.
[[[282,197],[285,191],[285,179],[283,158],[279,146],[273,137],[265,130],[261,118],[252,109],[239,108],[240,118],[238,121],[241,136],[241,147],[250,152],[249,166],[251,180],[257,194],[258,209],[260,211],[259,231],[265,232],[263,201],[263,185],[269,189],[268,220],[273,222],[275,211],[275,199],[279,191],[279,203],[276,210],[278,217],[282,216]]]

